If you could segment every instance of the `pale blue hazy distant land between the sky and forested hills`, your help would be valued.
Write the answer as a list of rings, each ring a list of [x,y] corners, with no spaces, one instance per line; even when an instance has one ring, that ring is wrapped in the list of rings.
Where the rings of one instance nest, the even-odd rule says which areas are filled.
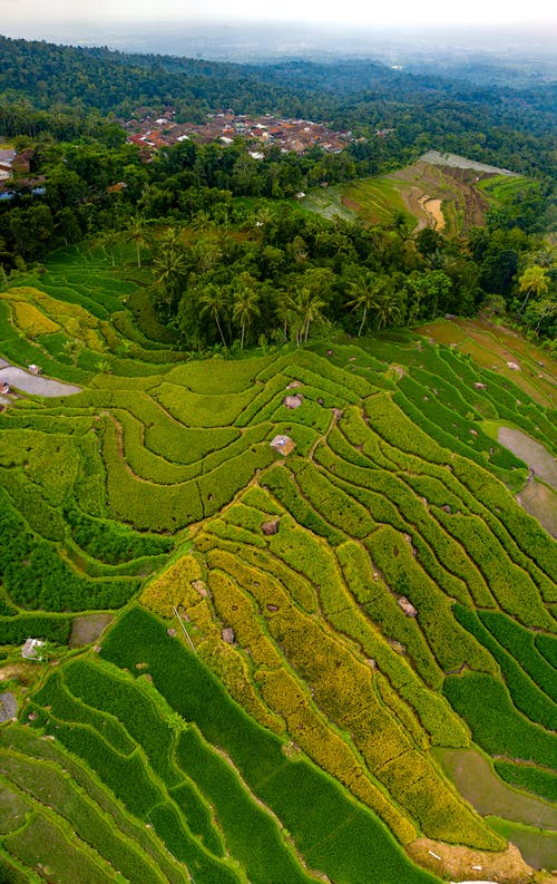
[[[307,22],[302,20],[241,19],[167,19],[148,21],[141,18],[86,20],[68,18],[57,21],[18,20],[19,3],[12,16],[4,17],[0,33],[11,39],[98,47],[120,51],[186,55],[225,58],[334,54],[365,54],[390,48],[395,51],[432,49],[436,46],[458,47],[465,52],[539,51],[557,59],[557,21],[521,21],[500,25],[489,22],[447,22],[434,25],[408,21],[356,25],[353,21]],[[183,47],[183,48],[182,48]]]

